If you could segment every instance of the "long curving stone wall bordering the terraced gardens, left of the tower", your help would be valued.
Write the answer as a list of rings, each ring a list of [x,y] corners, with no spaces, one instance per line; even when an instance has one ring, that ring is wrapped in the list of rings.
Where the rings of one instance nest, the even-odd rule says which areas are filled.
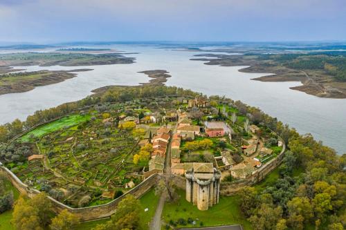
[[[13,186],[21,193],[28,195],[30,198],[32,198],[34,195],[40,193],[39,191],[35,189],[31,189],[28,185],[24,184],[17,178],[17,176],[12,173],[9,169],[7,169],[4,166],[1,166],[0,164],[0,171],[2,171],[8,180],[12,182]],[[123,194],[119,198],[116,198],[115,200],[112,200],[111,202],[107,204],[101,204],[98,206],[93,207],[84,207],[84,208],[71,208],[67,206],[66,204],[62,204],[62,202],[59,202],[55,200],[54,198],[51,198],[48,196],[48,198],[52,201],[53,209],[55,213],[59,213],[60,211],[67,209],[71,213],[75,213],[75,215],[78,215],[80,217],[80,220],[86,221],[86,220],[98,220],[101,218],[107,218],[111,216],[116,211],[116,207],[118,206],[119,202],[125,198],[126,195],[131,194],[134,195],[135,198],[140,198],[142,195],[144,195],[149,189],[151,189],[155,184],[157,184],[157,180],[159,178],[158,174],[150,175],[149,178],[143,180],[140,184],[135,186],[133,189],[127,191],[127,193]]]

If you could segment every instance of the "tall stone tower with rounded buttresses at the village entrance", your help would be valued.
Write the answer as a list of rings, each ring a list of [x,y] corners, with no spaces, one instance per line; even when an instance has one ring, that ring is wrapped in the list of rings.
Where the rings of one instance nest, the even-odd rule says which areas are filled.
[[[221,172],[212,163],[193,163],[185,172],[186,200],[199,210],[208,210],[219,203]]]

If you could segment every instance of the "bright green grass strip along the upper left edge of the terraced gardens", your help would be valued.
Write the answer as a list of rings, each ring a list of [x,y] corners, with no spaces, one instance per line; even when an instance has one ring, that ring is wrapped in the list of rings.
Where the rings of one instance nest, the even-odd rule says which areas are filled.
[[[70,127],[80,124],[81,122],[86,122],[88,119],[90,119],[90,115],[71,115],[68,117],[62,117],[54,122],[35,128],[33,131],[26,133],[26,135],[21,137],[20,140],[21,142],[30,142],[30,135],[32,134],[35,135],[35,137],[42,137],[47,133],[57,131],[65,126]]]

